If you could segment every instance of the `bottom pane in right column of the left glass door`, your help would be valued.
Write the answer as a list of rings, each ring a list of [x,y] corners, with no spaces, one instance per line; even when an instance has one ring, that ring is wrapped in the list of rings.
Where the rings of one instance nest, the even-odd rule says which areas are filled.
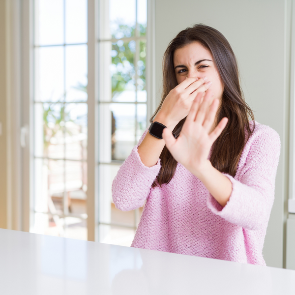
[[[87,220],[65,217],[64,237],[87,240]]]

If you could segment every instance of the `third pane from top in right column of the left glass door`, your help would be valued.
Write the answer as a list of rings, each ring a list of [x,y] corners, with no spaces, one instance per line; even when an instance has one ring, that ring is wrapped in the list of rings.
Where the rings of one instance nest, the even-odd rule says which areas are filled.
[[[65,105],[65,158],[87,160],[87,114],[86,103]]]

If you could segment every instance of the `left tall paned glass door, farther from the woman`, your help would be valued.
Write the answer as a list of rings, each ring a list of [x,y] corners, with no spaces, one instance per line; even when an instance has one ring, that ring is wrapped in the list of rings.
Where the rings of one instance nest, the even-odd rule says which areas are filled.
[[[34,1],[32,231],[87,239],[87,0]]]

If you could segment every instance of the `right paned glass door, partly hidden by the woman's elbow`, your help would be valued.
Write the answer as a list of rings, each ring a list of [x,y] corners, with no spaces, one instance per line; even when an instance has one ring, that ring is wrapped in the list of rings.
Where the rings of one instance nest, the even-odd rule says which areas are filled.
[[[111,184],[122,161],[147,128],[147,1],[100,5],[99,29],[99,235],[130,245],[142,208],[120,212]]]

